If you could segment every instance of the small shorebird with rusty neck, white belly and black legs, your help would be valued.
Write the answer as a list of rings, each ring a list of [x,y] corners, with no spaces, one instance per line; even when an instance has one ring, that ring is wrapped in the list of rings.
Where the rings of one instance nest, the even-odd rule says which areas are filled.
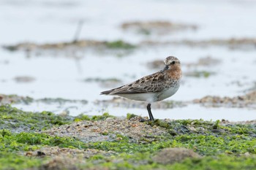
[[[173,96],[179,88],[182,76],[181,62],[178,58],[169,56],[165,58],[164,63],[165,68],[159,72],[142,77],[119,88],[102,91],[101,94],[121,96],[135,101],[147,101],[149,120],[154,120],[151,103]]]

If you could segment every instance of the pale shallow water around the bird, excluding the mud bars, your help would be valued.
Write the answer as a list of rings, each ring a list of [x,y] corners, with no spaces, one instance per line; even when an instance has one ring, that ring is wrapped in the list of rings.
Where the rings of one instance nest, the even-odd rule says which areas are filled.
[[[74,39],[78,22],[84,25],[80,39],[116,40],[131,43],[143,40],[171,41],[181,39],[255,38],[256,1],[1,1],[0,44],[20,42],[61,42]],[[121,23],[136,20],[170,20],[198,26],[197,30],[178,31],[165,36],[143,36],[122,31]],[[146,109],[120,107],[99,108],[95,100],[102,90],[115,88],[84,82],[86,78],[117,78],[128,83],[158,70],[148,69],[147,63],[175,55],[181,63],[195,63],[208,55],[221,63],[216,66],[198,66],[184,72],[203,70],[215,72],[208,78],[184,77],[181,88],[171,98],[189,101],[203,96],[238,96],[255,85],[255,50],[230,50],[227,47],[187,47],[165,45],[141,47],[129,55],[117,57],[113,53],[82,51],[81,58],[63,55],[32,56],[24,52],[9,52],[0,48],[0,93],[31,96],[33,98],[86,99],[89,104],[15,104],[29,111],[68,111],[70,115],[86,113],[124,116],[127,112],[146,116]],[[15,77],[34,77],[34,82],[16,82]],[[168,100],[168,99],[167,99]],[[154,105],[153,105],[154,109]],[[252,120],[255,110],[244,108],[205,108],[199,105],[175,109],[154,109],[156,118],[203,118],[205,120]]]

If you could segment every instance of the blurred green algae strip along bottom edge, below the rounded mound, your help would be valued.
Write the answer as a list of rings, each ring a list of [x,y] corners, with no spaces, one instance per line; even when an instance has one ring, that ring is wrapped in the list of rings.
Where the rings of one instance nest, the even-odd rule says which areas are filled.
[[[159,163],[154,163],[150,160],[147,154],[136,155],[136,158],[132,158],[129,155],[125,155],[126,158],[112,158],[108,160],[97,161],[100,166],[96,165],[97,169],[110,168],[110,169],[173,169],[173,170],[184,170],[184,169],[255,169],[256,162],[254,157],[233,157],[228,155],[219,155],[217,157],[204,157],[204,158],[187,158],[181,163],[162,165]],[[117,163],[115,163],[115,161]],[[114,162],[114,163],[113,163]],[[88,163],[87,166],[83,168],[95,168],[96,163]]]

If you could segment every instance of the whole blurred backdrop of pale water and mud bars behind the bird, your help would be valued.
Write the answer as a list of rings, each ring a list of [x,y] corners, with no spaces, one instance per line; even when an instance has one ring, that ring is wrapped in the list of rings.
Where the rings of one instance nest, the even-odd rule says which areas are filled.
[[[69,115],[147,116],[116,88],[180,59],[156,118],[254,120],[254,0],[1,0],[0,104]]]

